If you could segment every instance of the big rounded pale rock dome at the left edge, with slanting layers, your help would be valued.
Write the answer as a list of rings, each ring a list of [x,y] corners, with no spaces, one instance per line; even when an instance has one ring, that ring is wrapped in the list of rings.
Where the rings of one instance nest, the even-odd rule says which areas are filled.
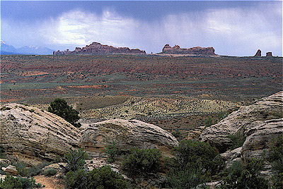
[[[80,130],[55,114],[23,104],[4,104],[0,110],[0,146],[11,157],[36,164],[79,144]]]

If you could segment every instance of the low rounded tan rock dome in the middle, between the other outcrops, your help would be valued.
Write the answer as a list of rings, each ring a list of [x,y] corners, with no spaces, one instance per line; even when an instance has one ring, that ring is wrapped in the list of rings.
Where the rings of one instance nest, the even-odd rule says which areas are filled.
[[[165,154],[178,145],[171,133],[139,120],[112,119],[98,123],[83,123],[80,145],[89,152],[102,152],[113,141],[120,150],[132,147],[158,148]]]

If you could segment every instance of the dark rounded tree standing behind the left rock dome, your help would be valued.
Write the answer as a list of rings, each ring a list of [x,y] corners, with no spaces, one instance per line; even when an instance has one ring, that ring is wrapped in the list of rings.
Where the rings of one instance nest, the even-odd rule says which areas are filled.
[[[75,127],[81,126],[81,123],[76,123],[76,121],[80,119],[79,111],[69,106],[64,99],[54,99],[54,101],[50,103],[48,111],[64,118]]]

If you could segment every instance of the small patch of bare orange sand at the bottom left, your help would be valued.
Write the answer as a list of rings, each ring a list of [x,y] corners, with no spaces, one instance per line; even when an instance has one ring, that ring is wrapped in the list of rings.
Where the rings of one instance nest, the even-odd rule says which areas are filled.
[[[59,189],[59,188],[65,188],[65,185],[62,181],[62,179],[57,179],[53,177],[47,177],[47,176],[35,176],[36,183],[40,183],[42,185],[45,185],[43,189]]]

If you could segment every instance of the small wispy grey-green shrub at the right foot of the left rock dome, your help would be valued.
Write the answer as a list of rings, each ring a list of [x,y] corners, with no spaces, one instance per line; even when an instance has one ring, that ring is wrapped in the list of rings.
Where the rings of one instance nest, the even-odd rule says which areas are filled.
[[[86,159],[88,159],[88,154],[82,149],[79,149],[69,150],[69,153],[65,154],[61,161],[67,163],[67,166],[64,166],[64,169],[68,172],[82,169],[83,165],[86,164]]]

